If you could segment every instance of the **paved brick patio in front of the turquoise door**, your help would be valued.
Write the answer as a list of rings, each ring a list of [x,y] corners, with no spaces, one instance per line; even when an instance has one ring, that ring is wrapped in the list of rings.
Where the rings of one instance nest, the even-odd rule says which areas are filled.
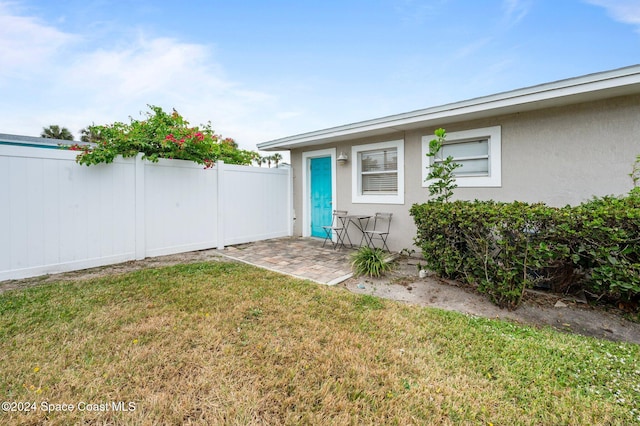
[[[223,254],[261,268],[334,285],[351,277],[351,249],[322,247],[322,239],[283,237],[225,247]]]

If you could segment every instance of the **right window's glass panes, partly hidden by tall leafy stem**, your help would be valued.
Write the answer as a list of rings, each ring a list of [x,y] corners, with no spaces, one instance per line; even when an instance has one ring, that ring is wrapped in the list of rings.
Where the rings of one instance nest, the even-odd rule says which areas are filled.
[[[453,157],[454,162],[461,165],[454,170],[455,176],[489,175],[489,139],[446,144],[433,159],[433,162],[440,163],[449,156]]]

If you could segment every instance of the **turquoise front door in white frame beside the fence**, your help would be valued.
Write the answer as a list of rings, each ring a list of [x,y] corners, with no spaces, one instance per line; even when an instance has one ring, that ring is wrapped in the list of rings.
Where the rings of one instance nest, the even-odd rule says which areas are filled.
[[[331,157],[312,158],[309,164],[310,204],[311,204],[311,236],[324,238],[327,236],[323,226],[331,225]]]

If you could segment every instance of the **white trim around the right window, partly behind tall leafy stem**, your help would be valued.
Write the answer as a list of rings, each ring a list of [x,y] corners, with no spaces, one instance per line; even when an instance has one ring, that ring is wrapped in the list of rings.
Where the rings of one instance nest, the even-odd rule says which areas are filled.
[[[447,133],[446,143],[463,142],[468,139],[489,140],[489,176],[458,176],[456,184],[460,188],[482,188],[502,186],[502,128],[501,126],[483,127],[480,129],[464,130],[462,132]],[[427,180],[431,164],[427,153],[429,142],[435,135],[422,137],[422,186],[428,187],[433,180]]]

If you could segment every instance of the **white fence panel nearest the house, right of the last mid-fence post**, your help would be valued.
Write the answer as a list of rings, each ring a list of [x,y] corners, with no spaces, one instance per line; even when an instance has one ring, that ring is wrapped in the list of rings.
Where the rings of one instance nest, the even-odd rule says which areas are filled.
[[[291,235],[290,169],[223,165],[220,173],[225,245]]]

